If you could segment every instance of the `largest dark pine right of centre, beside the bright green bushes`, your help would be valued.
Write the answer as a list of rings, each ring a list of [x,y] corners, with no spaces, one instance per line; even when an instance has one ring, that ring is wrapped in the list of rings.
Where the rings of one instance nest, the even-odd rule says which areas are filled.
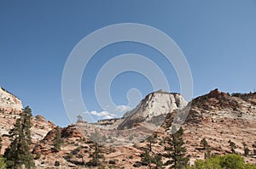
[[[182,169],[188,166],[189,157],[186,156],[187,149],[183,147],[183,128],[177,131],[176,127],[172,128],[172,139],[167,140],[168,146],[165,150],[168,152],[165,156],[170,160],[166,162],[166,166],[172,165],[171,168]]]

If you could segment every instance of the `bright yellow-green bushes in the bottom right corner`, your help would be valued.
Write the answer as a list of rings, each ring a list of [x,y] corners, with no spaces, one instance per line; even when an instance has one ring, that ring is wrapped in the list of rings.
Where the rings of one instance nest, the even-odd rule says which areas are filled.
[[[186,169],[256,169],[256,166],[245,163],[241,155],[214,155],[206,161],[197,160],[194,166]]]

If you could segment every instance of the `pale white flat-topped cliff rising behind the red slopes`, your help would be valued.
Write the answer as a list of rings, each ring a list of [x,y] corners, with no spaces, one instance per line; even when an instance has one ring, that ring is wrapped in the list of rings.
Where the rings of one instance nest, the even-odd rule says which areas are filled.
[[[123,117],[118,129],[129,128],[134,123],[151,121],[153,117],[166,115],[173,110],[183,109],[188,102],[179,93],[167,93],[163,90],[148,94],[134,110]]]

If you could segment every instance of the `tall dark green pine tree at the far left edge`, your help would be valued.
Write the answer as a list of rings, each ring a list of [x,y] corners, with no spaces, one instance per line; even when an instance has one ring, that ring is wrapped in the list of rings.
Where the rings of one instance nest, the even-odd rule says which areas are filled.
[[[4,152],[8,168],[34,168],[33,156],[30,151],[32,110],[27,106],[16,120],[15,127],[9,131],[11,144]]]

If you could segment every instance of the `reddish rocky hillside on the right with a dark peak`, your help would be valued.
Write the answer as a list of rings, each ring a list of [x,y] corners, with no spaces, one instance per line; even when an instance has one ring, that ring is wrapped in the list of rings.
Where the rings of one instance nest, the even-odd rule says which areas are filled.
[[[245,161],[256,164],[256,155],[253,155],[253,144],[256,141],[255,99],[256,93],[230,96],[218,89],[194,99],[183,125],[184,140],[191,155],[190,162],[204,159],[200,140],[206,138],[212,154],[218,155],[231,153],[229,141],[237,145],[236,153],[241,155],[244,153],[242,143],[247,144],[251,155],[244,157]]]

